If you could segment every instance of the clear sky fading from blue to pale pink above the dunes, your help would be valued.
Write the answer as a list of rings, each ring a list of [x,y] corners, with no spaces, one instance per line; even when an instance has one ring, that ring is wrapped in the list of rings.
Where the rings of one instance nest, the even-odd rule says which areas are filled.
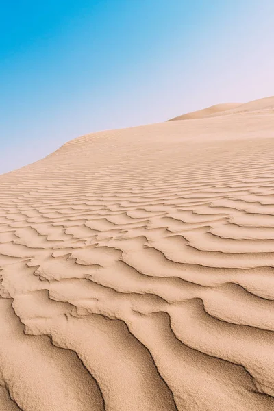
[[[274,95],[273,0],[0,0],[0,173],[105,129]]]

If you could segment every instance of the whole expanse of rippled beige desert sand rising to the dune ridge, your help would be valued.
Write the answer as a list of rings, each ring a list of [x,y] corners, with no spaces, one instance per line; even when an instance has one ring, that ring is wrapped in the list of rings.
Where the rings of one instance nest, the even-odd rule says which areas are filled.
[[[273,138],[274,97],[0,176],[0,410],[273,410]]]

